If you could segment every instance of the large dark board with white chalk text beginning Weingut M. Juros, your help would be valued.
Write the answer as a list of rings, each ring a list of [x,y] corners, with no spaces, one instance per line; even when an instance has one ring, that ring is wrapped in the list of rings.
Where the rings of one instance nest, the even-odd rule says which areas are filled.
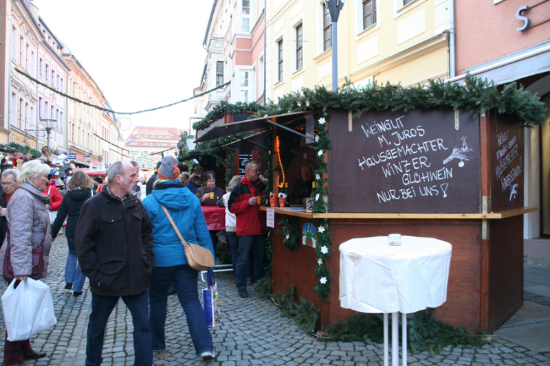
[[[474,111],[329,113],[329,212],[479,212]]]

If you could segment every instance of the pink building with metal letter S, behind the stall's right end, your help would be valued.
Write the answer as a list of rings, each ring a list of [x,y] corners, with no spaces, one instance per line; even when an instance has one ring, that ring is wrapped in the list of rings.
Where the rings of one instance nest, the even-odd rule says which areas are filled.
[[[502,85],[518,82],[547,108],[525,128],[525,255],[550,265],[550,1],[455,1],[456,81],[465,73]],[[483,34],[483,36],[479,36]]]

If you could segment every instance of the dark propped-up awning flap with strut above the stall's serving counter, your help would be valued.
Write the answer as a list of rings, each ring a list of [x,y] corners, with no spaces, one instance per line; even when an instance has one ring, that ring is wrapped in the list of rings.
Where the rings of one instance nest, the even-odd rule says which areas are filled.
[[[270,125],[277,126],[279,128],[284,128],[289,130],[297,135],[305,137],[303,133],[299,133],[292,128],[283,126],[289,122],[296,121],[296,119],[305,118],[308,115],[314,114],[317,111],[300,111],[300,112],[291,112],[284,113],[281,115],[269,115],[265,117],[246,119],[241,122],[232,122],[229,124],[222,124],[206,132],[204,135],[195,140],[195,142],[202,142],[211,139],[217,139],[218,137],[225,137],[230,135],[236,135],[237,133],[247,133],[247,132],[265,132],[270,128]]]

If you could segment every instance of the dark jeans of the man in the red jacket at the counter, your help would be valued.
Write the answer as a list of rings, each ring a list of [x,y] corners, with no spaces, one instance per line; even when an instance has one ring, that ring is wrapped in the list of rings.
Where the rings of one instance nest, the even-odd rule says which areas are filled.
[[[246,288],[247,262],[250,251],[254,251],[254,281],[263,277],[263,250],[265,236],[237,236],[239,239],[239,260],[236,264],[236,288]]]

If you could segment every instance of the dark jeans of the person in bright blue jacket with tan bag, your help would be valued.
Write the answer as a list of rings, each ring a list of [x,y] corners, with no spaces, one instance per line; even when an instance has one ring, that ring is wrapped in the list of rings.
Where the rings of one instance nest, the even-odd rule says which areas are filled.
[[[204,310],[199,301],[197,278],[199,273],[187,264],[180,266],[155,267],[149,286],[149,308],[151,330],[153,331],[153,350],[164,350],[164,325],[166,324],[166,300],[168,288],[174,283],[179,304],[184,308],[187,328],[197,354],[214,350],[212,336],[206,325]]]

